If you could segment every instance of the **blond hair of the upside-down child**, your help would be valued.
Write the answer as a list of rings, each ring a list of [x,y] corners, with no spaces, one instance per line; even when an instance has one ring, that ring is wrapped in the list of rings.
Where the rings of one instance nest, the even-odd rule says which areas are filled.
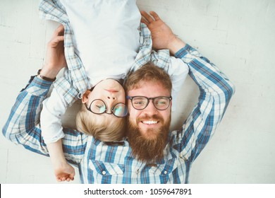
[[[82,104],[82,107],[76,115],[76,128],[80,132],[94,136],[100,141],[121,141],[125,136],[126,118],[120,117],[115,119],[114,115],[108,116],[104,120],[98,120],[99,116],[92,114]]]

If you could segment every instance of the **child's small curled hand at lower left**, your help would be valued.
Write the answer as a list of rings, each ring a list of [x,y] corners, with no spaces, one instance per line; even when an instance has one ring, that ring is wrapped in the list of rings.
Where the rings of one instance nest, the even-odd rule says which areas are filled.
[[[56,181],[58,182],[70,182],[74,180],[75,169],[68,163],[59,166],[54,169],[54,174],[56,175]]]

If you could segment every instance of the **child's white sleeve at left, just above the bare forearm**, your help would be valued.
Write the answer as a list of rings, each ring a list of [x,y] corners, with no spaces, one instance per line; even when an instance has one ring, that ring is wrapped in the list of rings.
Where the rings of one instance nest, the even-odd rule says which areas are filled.
[[[43,101],[40,124],[46,144],[56,142],[65,136],[61,116],[65,114],[66,107],[65,101],[59,96],[56,88],[53,88],[51,96]]]

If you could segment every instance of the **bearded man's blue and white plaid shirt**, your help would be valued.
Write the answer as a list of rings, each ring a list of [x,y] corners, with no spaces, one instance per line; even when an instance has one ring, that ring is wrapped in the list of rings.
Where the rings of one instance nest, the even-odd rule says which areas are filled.
[[[188,183],[190,167],[226,111],[235,88],[231,81],[193,47],[186,45],[176,57],[188,64],[189,75],[200,88],[198,103],[181,130],[169,133],[164,158],[157,165],[131,155],[128,141],[108,146],[74,129],[63,129],[63,152],[78,166],[82,183]],[[3,128],[4,136],[35,153],[49,156],[41,136],[39,113],[51,82],[37,77],[20,92]]]

